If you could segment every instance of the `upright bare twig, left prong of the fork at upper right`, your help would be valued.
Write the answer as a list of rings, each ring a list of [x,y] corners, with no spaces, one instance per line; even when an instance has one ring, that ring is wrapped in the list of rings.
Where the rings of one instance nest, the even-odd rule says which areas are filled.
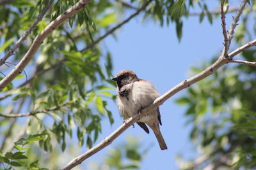
[[[228,36],[226,30],[226,21],[225,21],[225,12],[224,12],[224,3],[225,0],[221,1],[221,26],[222,26],[222,34],[224,36],[224,48],[223,48],[223,56],[227,57],[228,53]]]

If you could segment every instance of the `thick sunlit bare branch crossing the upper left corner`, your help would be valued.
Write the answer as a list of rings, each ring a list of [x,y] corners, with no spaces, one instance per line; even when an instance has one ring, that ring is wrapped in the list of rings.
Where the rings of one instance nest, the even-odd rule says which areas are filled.
[[[47,25],[47,27],[45,27],[45,29],[40,34],[38,34],[38,36],[36,36],[28,52],[22,58],[22,60],[20,60],[19,64],[17,64],[17,66],[6,77],[4,77],[3,80],[0,81],[0,92],[16,76],[22,73],[24,67],[27,66],[29,61],[37,52],[40,45],[44,43],[44,39],[47,38],[47,36],[49,36],[49,34],[51,34],[51,32],[54,31],[58,26],[60,26],[63,22],[65,22],[65,20],[70,18],[72,15],[75,15],[77,12],[83,10],[83,8],[85,8],[89,3],[90,3],[90,0],[80,0],[74,6],[72,6],[63,14],[61,14],[59,17],[57,17],[55,20],[53,20],[49,25]]]

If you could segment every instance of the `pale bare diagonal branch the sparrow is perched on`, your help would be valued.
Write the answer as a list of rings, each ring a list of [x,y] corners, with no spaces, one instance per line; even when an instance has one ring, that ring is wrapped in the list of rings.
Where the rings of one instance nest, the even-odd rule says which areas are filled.
[[[256,39],[254,40],[256,41]],[[252,43],[250,43],[252,44]],[[254,44],[255,45],[255,44]],[[247,46],[241,46],[239,48],[239,52],[243,52],[247,49]],[[236,51],[236,50],[235,50]],[[235,52],[230,53],[229,56],[233,56]],[[238,53],[236,53],[237,55]],[[234,56],[233,56],[234,57]],[[228,63],[228,59],[220,55],[219,59],[214,62],[211,66],[207,67],[204,71],[201,73],[196,74],[195,76],[189,78],[188,80],[184,80],[180,82],[178,85],[170,89],[168,92],[163,94],[162,96],[158,97],[154,103],[150,104],[149,106],[145,107],[143,110],[141,110],[140,114],[134,115],[133,117],[129,118],[127,122],[122,124],[118,129],[116,129],[112,134],[110,134],[107,138],[103,139],[99,144],[88,150],[87,152],[83,153],[82,155],[79,155],[79,157],[76,157],[75,159],[71,160],[66,166],[62,167],[61,170],[67,170],[72,169],[73,167],[76,167],[77,165],[81,164],[85,159],[88,159],[93,154],[99,152],[106,146],[110,145],[122,132],[124,132],[128,127],[130,127],[135,122],[138,122],[140,120],[140,117],[143,117],[146,113],[148,113],[151,110],[156,109],[158,106],[163,104],[167,99],[172,97],[174,94],[179,92],[180,90],[188,88],[190,85],[193,85],[193,83],[196,83],[197,81],[200,81],[207,76],[214,73],[216,70],[218,70],[221,66],[224,66]]]

